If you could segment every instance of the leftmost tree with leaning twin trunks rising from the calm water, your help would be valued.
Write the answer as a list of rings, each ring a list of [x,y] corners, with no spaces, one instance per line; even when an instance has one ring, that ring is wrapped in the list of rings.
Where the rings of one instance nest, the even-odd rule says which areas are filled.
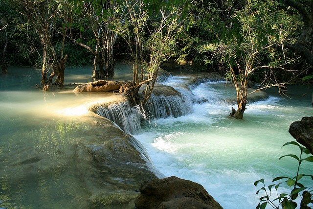
[[[60,87],[64,84],[64,70],[67,55],[63,54],[66,25],[62,37],[62,46],[58,55],[52,40],[55,34],[57,20],[60,18],[62,8],[67,5],[63,1],[36,1],[36,0],[12,0],[11,5],[24,15],[32,27],[36,30],[42,44],[42,79],[41,86],[44,90],[48,90],[53,82],[54,76],[57,74],[55,83]],[[50,72],[49,78],[47,73]]]

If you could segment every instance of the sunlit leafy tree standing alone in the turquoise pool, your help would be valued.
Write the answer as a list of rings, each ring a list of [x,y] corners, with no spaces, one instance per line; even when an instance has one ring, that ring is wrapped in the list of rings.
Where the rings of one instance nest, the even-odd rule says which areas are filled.
[[[244,9],[235,11],[218,44],[204,46],[203,50],[221,55],[228,67],[226,77],[233,81],[237,93],[238,108],[231,113],[235,118],[243,118],[248,81],[256,71],[264,75],[263,86],[259,89],[285,84],[275,77],[275,70],[286,70],[286,63],[294,60],[288,60],[284,47],[280,48],[280,40],[288,36],[292,24],[286,22],[287,14],[282,14],[277,7],[276,1],[248,1]]]

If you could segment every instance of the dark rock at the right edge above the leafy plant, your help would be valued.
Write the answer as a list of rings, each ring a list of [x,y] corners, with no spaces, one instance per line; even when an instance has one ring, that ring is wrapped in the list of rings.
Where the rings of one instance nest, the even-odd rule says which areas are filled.
[[[313,154],[313,117],[302,117],[300,121],[291,123],[289,133]]]

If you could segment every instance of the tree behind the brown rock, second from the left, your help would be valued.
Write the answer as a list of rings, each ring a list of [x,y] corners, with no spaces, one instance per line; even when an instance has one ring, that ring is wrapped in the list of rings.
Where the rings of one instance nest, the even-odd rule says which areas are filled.
[[[127,20],[126,5],[120,0],[72,0],[72,2],[75,4],[74,10],[78,17],[72,27],[79,28],[80,32],[75,34],[71,31],[67,37],[94,55],[93,77],[112,77],[115,64],[113,46],[118,35],[116,25]],[[87,30],[92,31],[92,38],[88,37],[88,34],[83,35]]]

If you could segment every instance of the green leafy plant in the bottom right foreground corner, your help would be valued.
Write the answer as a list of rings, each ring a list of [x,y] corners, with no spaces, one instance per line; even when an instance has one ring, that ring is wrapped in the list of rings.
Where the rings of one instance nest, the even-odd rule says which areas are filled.
[[[295,209],[298,204],[295,202],[297,198],[301,198],[300,209],[311,209],[309,207],[310,203],[313,203],[313,185],[304,186],[300,183],[300,180],[303,177],[311,178],[313,181],[313,175],[308,174],[299,174],[300,165],[303,161],[307,161],[313,163],[313,156],[310,154],[309,150],[301,145],[299,145],[295,141],[287,142],[283,146],[286,145],[296,145],[300,149],[300,156],[294,154],[288,154],[280,157],[282,159],[284,157],[291,157],[298,162],[297,173],[293,178],[280,176],[273,179],[272,182],[277,182],[279,180],[285,179],[286,184],[291,188],[290,194],[280,193],[278,192],[278,187],[282,184],[282,182],[278,184],[269,185],[268,188],[265,186],[264,179],[260,179],[254,182],[254,186],[257,186],[259,183],[262,187],[256,192],[258,195],[261,191],[264,191],[265,195],[260,197],[260,203],[256,207],[256,209],[265,209],[268,205],[270,205],[274,209],[279,209],[281,206],[282,209]],[[304,157],[303,154],[306,154]],[[311,155],[311,156],[307,156]],[[302,193],[302,194],[301,194]],[[271,198],[271,196],[277,195],[277,197]]]

